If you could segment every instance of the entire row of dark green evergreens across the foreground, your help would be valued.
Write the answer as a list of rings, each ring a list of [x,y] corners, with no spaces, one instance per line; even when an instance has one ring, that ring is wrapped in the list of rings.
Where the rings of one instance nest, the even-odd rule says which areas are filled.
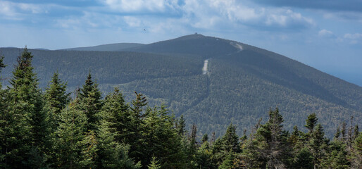
[[[90,73],[74,99],[58,73],[43,93],[26,48],[10,83],[0,84],[0,168],[362,168],[358,126],[342,123],[330,140],[314,113],[308,132],[284,130],[275,108],[249,136],[230,124],[223,137],[200,139],[196,125],[188,132],[182,116],[142,94],[126,103],[116,88],[102,99]]]

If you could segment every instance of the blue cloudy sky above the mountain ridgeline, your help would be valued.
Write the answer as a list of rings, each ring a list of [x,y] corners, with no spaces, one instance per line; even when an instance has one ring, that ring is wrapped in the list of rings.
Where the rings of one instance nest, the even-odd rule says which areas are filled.
[[[0,0],[0,47],[149,44],[195,32],[362,86],[362,0]]]

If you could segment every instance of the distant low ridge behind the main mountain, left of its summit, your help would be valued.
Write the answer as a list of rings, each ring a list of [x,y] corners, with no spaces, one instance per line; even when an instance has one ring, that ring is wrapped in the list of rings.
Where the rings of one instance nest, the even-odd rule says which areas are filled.
[[[118,44],[102,44],[89,47],[77,47],[70,49],[61,49],[64,51],[122,51],[123,49],[143,46],[144,44],[137,43],[118,43]]]

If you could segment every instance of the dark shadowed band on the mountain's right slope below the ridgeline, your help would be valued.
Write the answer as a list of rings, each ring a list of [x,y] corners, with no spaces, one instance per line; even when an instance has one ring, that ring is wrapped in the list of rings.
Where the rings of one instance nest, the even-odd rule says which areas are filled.
[[[244,50],[231,54],[230,56],[223,57],[223,60],[237,66],[242,66],[250,73],[261,77],[262,79],[280,84],[284,87],[288,87],[289,89],[294,89],[304,94],[316,96],[325,101],[330,101],[334,104],[347,108],[351,107],[346,101],[337,98],[319,84],[308,80],[306,77],[301,77],[296,73],[293,73],[292,70],[289,70],[289,68],[282,65],[279,61],[256,51]]]

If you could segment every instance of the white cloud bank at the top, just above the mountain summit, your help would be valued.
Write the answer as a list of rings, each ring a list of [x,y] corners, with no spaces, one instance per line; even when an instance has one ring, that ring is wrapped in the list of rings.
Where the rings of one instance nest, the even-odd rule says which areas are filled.
[[[186,17],[193,17],[195,26],[210,27],[218,23],[229,23],[268,29],[268,27],[304,28],[315,25],[311,18],[286,8],[251,7],[234,0],[186,0],[182,11]]]

